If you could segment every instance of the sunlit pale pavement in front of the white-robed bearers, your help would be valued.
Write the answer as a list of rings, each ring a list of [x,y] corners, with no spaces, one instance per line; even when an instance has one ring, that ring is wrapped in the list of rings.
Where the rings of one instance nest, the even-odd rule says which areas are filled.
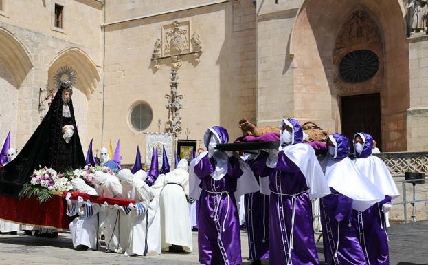
[[[246,233],[241,233],[243,264],[250,264]],[[29,237],[23,235],[0,235],[0,264],[199,264],[197,255],[197,233],[193,232],[193,253],[172,254],[164,252],[158,256],[126,257],[124,254],[106,254],[105,247],[99,251],[76,251],[72,248],[71,234],[59,233],[58,238]]]

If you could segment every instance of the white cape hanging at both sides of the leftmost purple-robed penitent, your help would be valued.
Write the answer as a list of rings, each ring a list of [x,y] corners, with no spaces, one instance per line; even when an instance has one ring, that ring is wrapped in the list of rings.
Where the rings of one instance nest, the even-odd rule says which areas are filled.
[[[199,184],[201,183],[201,179],[196,176],[194,173],[194,167],[196,164],[198,164],[204,156],[207,155],[207,151],[202,152],[197,158],[192,160],[190,162],[189,166],[189,193],[190,198],[193,198],[194,200],[199,200],[199,197],[201,196],[202,189],[199,187]],[[247,194],[247,193],[253,193],[256,191],[259,191],[260,188],[258,186],[257,180],[254,177],[253,171],[251,171],[251,167],[244,162],[242,159],[240,159],[239,156],[236,156],[239,160],[239,167],[243,171],[243,175],[238,178],[238,181],[236,183],[236,191],[234,192],[236,202],[238,204],[240,200],[240,196]],[[223,175],[224,176],[224,175]],[[219,178],[218,180],[221,180]]]

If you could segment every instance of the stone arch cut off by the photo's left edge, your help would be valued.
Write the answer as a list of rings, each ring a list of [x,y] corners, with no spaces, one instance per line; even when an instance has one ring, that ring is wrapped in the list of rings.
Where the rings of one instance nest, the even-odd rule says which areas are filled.
[[[33,68],[32,59],[16,37],[0,28],[0,145],[10,129],[12,145],[18,147],[19,89]]]

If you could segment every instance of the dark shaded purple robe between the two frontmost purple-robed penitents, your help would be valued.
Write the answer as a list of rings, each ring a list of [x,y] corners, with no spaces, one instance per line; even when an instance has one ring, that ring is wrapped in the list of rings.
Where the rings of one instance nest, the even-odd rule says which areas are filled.
[[[262,151],[249,166],[256,180],[269,176],[266,160],[269,153]],[[269,195],[260,191],[245,194],[245,221],[247,223],[249,258],[252,260],[269,259]]]

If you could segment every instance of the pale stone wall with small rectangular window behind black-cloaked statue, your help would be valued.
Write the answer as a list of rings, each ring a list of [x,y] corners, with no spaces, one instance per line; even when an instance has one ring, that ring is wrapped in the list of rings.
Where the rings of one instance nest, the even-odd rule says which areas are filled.
[[[64,5],[63,30],[58,31],[52,28],[54,3]],[[82,21],[82,18],[85,18],[85,21]],[[5,72],[8,74],[1,74],[0,82],[12,84],[5,81],[8,79],[5,76],[10,75],[19,80],[19,83],[13,84],[15,92],[13,89],[10,94],[8,92],[8,104],[0,104],[1,123],[8,120],[3,117],[15,118],[15,125],[8,123],[8,125],[5,124],[5,127],[1,126],[1,140],[10,127],[12,146],[18,149],[23,147],[40,123],[40,116],[43,115],[38,112],[38,92],[39,88],[45,89],[49,83],[49,68],[52,65],[56,67],[69,65],[74,67],[78,74],[76,84],[78,91],[75,92],[74,105],[78,108],[76,119],[80,122],[80,134],[84,136],[81,138],[82,145],[84,148],[87,146],[85,120],[90,110],[88,112],[80,112],[80,110],[85,109],[87,105],[91,109],[91,104],[88,104],[91,96],[87,97],[87,87],[82,87],[82,83],[85,83],[83,82],[84,76],[93,80],[93,84],[91,84],[93,87],[96,87],[96,84],[101,81],[100,75],[95,78],[89,74],[90,67],[95,67],[98,72],[101,72],[101,22],[102,4],[99,1],[5,1],[5,12],[0,15],[0,30],[3,30],[3,33],[0,34],[0,50],[2,51],[0,65],[7,65]],[[67,60],[62,60],[62,54],[70,49],[77,49],[85,55],[71,56]],[[14,56],[3,56],[7,52],[19,54],[18,60]],[[82,57],[85,56],[90,59],[91,63],[87,63],[87,61],[82,63]],[[24,65],[11,66],[19,60],[28,60],[30,62],[29,70],[23,72]],[[49,83],[49,87],[52,88],[51,83]],[[2,87],[2,92],[4,91]],[[45,95],[42,94],[42,96]]]

